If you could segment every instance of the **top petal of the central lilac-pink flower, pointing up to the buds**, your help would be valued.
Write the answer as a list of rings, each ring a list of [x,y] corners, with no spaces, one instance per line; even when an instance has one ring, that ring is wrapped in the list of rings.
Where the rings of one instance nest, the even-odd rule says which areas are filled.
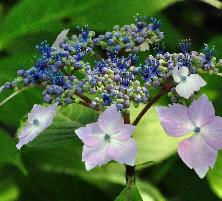
[[[123,118],[121,113],[117,111],[115,105],[108,107],[98,119],[99,127],[104,133],[114,134],[123,126]]]

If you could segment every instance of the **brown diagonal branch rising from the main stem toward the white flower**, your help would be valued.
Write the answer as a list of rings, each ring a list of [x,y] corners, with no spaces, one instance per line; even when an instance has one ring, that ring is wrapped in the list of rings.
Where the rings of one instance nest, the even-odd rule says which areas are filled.
[[[151,99],[146,106],[142,109],[142,111],[139,113],[139,115],[136,117],[136,119],[133,122],[134,126],[137,126],[137,124],[140,122],[140,120],[142,119],[143,115],[163,96],[165,95],[167,92],[170,91],[170,89],[173,87],[173,85],[171,83],[166,83],[163,85],[163,87],[161,88],[159,94],[157,94],[156,96],[154,96],[153,99]]]

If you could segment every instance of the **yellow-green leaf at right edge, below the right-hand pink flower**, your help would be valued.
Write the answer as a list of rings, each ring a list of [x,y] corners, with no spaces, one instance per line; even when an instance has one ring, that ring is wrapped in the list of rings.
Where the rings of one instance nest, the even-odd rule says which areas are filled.
[[[222,199],[222,153],[218,155],[217,162],[207,174],[211,189]]]

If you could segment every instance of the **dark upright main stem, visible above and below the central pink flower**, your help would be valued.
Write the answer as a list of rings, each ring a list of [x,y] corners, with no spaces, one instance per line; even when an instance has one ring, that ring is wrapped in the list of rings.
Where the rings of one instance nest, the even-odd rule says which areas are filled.
[[[130,124],[130,113],[123,113],[124,124]],[[126,165],[126,186],[131,188],[136,182],[135,166]]]

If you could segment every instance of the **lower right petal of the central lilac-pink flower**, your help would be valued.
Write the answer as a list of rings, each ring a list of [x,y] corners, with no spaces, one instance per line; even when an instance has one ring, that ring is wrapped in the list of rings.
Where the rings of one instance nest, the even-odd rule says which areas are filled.
[[[109,145],[107,154],[111,160],[134,166],[136,152],[136,142],[131,138],[125,142],[115,140]]]

